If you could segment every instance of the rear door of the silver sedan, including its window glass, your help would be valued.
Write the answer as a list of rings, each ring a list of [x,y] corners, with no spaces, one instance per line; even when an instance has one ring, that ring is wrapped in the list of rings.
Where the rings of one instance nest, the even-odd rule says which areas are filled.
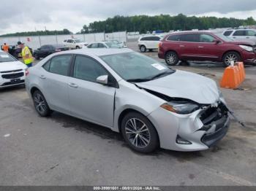
[[[69,114],[68,82],[72,55],[58,55],[44,66],[45,72],[39,74],[44,94],[50,108]]]

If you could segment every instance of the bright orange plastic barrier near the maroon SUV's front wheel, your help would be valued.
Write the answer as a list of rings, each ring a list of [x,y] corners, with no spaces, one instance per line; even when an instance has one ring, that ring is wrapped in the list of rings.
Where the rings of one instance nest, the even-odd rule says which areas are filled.
[[[228,66],[223,74],[222,80],[220,82],[220,87],[225,88],[237,88],[240,85],[239,74],[236,66]]]

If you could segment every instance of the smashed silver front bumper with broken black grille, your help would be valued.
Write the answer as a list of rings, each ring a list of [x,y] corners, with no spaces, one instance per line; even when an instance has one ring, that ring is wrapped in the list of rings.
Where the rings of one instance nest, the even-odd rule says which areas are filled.
[[[221,101],[192,114],[175,114],[159,108],[148,118],[157,128],[160,147],[177,151],[208,149],[226,135],[230,126],[228,109]]]

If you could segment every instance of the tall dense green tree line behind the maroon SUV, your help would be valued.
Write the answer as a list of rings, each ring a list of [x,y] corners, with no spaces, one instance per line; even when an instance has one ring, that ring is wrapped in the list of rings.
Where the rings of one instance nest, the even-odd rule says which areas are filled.
[[[252,17],[247,19],[236,19],[226,17],[187,17],[186,15],[136,15],[136,16],[119,16],[108,18],[103,21],[94,21],[89,25],[84,25],[80,31],[82,34],[95,32],[114,32],[114,31],[139,31],[146,33],[147,31],[162,30],[168,32],[170,30],[206,30],[208,28],[236,28],[238,26],[255,25],[256,21]]]

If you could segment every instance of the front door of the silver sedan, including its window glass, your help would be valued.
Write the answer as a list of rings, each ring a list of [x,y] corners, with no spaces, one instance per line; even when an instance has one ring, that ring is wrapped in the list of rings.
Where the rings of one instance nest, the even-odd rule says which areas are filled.
[[[115,87],[101,85],[97,77],[110,75],[93,58],[77,55],[69,80],[69,101],[72,114],[77,117],[113,127]]]

